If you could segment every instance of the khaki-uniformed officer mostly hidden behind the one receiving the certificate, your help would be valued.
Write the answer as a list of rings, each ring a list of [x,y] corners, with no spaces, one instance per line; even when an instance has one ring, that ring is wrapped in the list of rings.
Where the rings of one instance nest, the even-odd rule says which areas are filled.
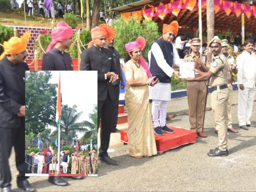
[[[225,55],[227,58],[227,63],[229,63],[229,73],[227,73],[227,87],[229,88],[229,100],[227,101],[227,130],[229,132],[238,133],[239,131],[232,127],[232,115],[231,115],[231,106],[232,106],[232,92],[233,92],[233,86],[232,86],[232,73],[237,74],[236,69],[236,63],[235,63],[235,57],[233,55],[230,55],[227,51],[227,47],[229,46],[229,43],[226,39],[221,40],[221,51],[222,54]]]

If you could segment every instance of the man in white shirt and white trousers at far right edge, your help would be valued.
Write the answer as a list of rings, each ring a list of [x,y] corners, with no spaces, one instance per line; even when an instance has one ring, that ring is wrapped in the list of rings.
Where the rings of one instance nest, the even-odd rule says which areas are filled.
[[[238,123],[239,127],[248,130],[251,124],[250,118],[254,105],[255,83],[256,83],[256,55],[252,40],[244,42],[244,51],[238,55]]]

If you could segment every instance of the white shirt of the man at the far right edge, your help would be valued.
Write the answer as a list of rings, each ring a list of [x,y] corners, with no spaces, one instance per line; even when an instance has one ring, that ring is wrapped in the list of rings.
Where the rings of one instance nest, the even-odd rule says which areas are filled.
[[[254,88],[256,83],[256,55],[243,51],[236,59],[238,66],[237,84],[244,87]]]

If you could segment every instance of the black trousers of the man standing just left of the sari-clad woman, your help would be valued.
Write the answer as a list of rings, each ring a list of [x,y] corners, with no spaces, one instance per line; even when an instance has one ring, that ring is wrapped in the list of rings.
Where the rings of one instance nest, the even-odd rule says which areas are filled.
[[[98,101],[98,127],[99,120],[101,119],[101,147],[99,148],[99,157],[107,155],[112,129],[114,104],[115,101],[110,98],[109,94],[107,94],[105,101]]]

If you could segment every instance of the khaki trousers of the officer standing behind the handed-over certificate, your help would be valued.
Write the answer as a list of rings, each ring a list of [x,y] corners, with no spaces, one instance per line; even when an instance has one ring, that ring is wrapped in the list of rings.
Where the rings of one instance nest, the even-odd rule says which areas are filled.
[[[191,130],[202,131],[202,116],[206,96],[205,82],[188,82],[188,114]]]

